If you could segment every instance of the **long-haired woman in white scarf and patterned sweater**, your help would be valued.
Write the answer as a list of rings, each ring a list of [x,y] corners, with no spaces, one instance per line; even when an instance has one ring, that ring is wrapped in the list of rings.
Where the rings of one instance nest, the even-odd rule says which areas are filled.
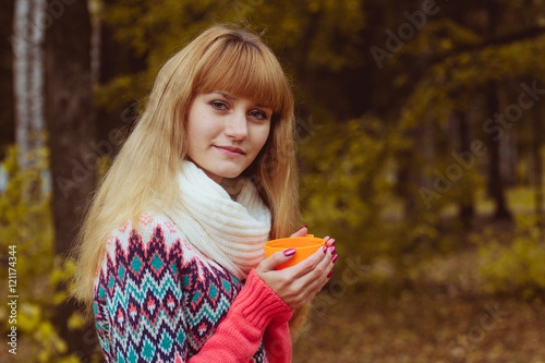
[[[256,35],[205,31],[160,70],[81,233],[76,293],[107,362],[289,362],[336,261],[298,229],[293,98]],[[291,235],[306,234],[306,227]]]

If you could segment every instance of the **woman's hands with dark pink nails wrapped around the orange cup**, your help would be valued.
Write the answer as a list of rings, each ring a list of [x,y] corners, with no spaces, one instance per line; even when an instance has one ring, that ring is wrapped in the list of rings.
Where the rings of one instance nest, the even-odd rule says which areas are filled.
[[[307,228],[303,227],[291,237],[304,237],[306,233]],[[293,308],[301,307],[314,299],[314,295],[322,290],[332,274],[334,264],[337,261],[334,247],[335,239],[326,237],[324,240],[327,249],[325,253],[324,249],[318,249],[299,264],[277,270],[275,268],[278,265],[293,257],[293,254],[286,256],[284,252],[279,251],[262,261],[255,273],[288,305]]]

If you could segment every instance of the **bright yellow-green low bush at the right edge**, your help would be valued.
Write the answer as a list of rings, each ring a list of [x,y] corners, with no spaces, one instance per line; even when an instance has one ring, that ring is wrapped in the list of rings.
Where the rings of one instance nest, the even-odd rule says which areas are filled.
[[[480,246],[480,274],[488,293],[532,299],[545,292],[545,245],[531,218],[519,218],[512,240],[491,238]]]

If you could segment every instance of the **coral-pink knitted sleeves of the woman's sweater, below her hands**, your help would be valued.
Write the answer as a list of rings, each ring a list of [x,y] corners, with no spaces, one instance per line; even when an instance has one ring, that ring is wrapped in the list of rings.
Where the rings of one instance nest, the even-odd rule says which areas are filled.
[[[189,363],[249,362],[265,331],[269,362],[291,362],[288,327],[293,310],[252,270],[216,332]]]

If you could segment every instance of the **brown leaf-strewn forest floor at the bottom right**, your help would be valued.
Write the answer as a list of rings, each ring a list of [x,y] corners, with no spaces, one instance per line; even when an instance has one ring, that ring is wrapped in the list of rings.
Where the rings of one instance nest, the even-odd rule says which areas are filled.
[[[315,312],[293,362],[545,362],[545,306],[512,298],[405,289],[347,293]]]

